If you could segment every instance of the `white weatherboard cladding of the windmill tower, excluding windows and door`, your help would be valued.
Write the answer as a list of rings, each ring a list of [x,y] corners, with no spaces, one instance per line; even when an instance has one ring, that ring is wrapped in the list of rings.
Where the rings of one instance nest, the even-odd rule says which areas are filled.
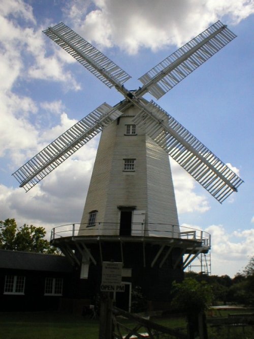
[[[168,154],[137,126],[137,135],[125,135],[137,112],[129,108],[102,132],[79,235],[118,235],[119,206],[145,210],[152,223],[147,231],[165,229],[158,223],[178,225]],[[135,159],[134,172],[123,171],[123,159]],[[93,210],[98,210],[96,227],[86,228]]]

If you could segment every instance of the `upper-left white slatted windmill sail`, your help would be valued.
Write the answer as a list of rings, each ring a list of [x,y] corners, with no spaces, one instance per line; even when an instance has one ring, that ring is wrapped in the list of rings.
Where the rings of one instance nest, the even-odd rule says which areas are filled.
[[[121,87],[131,78],[97,48],[89,44],[67,25],[60,22],[43,31],[50,39],[73,56],[81,65],[97,76],[109,88]]]

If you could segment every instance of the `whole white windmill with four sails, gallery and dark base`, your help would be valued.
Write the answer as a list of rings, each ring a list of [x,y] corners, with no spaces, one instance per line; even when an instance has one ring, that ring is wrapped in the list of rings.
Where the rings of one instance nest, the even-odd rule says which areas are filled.
[[[100,290],[102,262],[113,260],[123,263],[127,304],[131,288],[140,286],[153,307],[162,307],[172,281],[210,249],[209,235],[179,227],[169,155],[220,203],[242,180],[143,95],[159,99],[235,35],[216,22],[140,77],[141,88],[128,91],[123,83],[130,76],[68,26],[44,33],[123,100],[94,109],[13,175],[28,191],[102,131],[81,223],[71,231],[53,229],[51,241],[80,267],[87,297]]]

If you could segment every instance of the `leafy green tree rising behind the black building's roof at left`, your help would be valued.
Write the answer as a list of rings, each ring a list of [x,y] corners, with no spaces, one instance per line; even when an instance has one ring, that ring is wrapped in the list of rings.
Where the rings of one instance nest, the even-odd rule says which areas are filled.
[[[15,219],[0,221],[0,248],[16,251],[58,253],[49,241],[44,239],[46,230],[43,227],[23,224],[18,227]]]

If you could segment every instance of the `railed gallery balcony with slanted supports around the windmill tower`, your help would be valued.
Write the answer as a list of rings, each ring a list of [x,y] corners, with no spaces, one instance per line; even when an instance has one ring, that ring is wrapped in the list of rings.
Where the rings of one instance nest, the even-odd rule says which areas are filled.
[[[148,249],[156,248],[149,266],[163,266],[172,251],[177,250],[179,260],[175,265],[185,269],[201,253],[207,253],[211,248],[211,236],[199,229],[169,224],[136,223],[129,234],[119,234],[119,223],[95,223],[92,227],[87,224],[65,224],[51,231],[50,242],[57,246],[73,262],[81,265],[84,257],[87,262],[97,265],[109,259],[104,248],[119,247],[118,261],[124,263],[125,249],[128,246],[141,247],[144,266]],[[96,251],[93,249],[97,248]],[[92,250],[91,250],[92,249]],[[95,258],[92,253],[99,253]],[[186,255],[182,261],[182,256]],[[115,258],[114,258],[115,259]]]

